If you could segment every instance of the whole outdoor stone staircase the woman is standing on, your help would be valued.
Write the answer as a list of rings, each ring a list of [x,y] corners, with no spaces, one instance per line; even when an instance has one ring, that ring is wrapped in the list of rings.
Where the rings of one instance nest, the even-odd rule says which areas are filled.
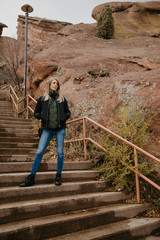
[[[56,163],[43,163],[36,185],[20,188],[36,148],[30,121],[16,119],[0,92],[1,240],[149,239],[160,230],[160,219],[137,217],[147,204],[126,204],[125,193],[106,192],[89,161],[65,162],[59,187]]]

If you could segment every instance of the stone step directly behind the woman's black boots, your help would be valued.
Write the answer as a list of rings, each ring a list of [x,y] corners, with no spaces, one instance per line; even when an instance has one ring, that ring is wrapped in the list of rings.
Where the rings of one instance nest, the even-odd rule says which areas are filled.
[[[21,182],[24,182],[28,173],[3,173],[0,174],[0,187],[19,186]],[[75,182],[75,181],[89,181],[95,180],[98,171],[96,170],[75,170],[64,171],[63,182]],[[35,177],[36,184],[53,183],[56,176],[56,171],[38,172]]]

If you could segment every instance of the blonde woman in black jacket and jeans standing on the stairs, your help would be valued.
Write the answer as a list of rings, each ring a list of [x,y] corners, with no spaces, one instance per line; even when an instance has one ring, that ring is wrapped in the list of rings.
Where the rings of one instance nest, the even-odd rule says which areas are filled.
[[[32,186],[35,184],[35,175],[41,163],[43,154],[53,136],[56,137],[57,144],[57,174],[55,185],[61,185],[61,173],[64,161],[64,137],[66,120],[70,117],[68,103],[60,93],[60,85],[57,78],[50,78],[45,91],[36,104],[34,116],[41,120],[42,135],[40,137],[38,149],[32,165],[31,173],[20,187]]]

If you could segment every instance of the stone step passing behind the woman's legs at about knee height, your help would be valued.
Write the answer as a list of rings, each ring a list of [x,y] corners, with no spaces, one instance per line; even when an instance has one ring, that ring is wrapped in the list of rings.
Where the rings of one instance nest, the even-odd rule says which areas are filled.
[[[0,162],[33,162],[35,154],[0,154]],[[45,154],[43,159],[50,159],[51,155]]]

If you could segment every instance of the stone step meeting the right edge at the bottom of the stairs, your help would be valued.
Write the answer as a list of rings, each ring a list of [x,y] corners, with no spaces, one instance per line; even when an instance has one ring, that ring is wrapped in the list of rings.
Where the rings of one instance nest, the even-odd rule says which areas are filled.
[[[160,228],[159,218],[132,218],[48,240],[138,240],[158,228]]]

